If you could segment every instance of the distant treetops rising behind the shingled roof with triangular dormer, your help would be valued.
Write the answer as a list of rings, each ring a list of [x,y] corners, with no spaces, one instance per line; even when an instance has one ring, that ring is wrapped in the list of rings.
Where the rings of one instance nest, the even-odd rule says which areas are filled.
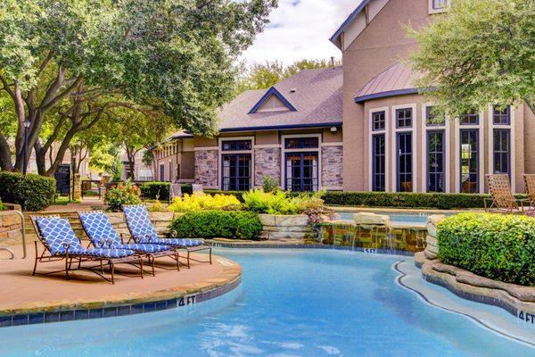
[[[331,63],[325,60],[300,60],[293,62],[288,66],[280,61],[265,62],[263,64],[255,63],[249,69],[242,68],[242,73],[238,79],[236,92],[243,93],[250,89],[263,89],[276,85],[283,79],[292,77],[299,71],[315,68],[326,68],[342,65],[342,62],[336,61]],[[243,66],[244,67],[244,66]]]

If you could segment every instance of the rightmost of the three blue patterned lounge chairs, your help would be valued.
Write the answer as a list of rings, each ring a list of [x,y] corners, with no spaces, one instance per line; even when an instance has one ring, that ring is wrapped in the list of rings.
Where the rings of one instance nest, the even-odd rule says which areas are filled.
[[[205,245],[202,239],[183,239],[177,238],[173,234],[172,238],[158,237],[158,232],[152,227],[152,222],[149,218],[149,212],[144,205],[125,205],[123,211],[127,219],[128,230],[135,243],[144,244],[150,243],[155,245],[170,245],[175,249],[185,250],[187,253],[187,268],[191,267],[190,262],[205,262],[191,258],[190,253],[207,250],[209,253],[209,261],[211,259],[211,246]]]

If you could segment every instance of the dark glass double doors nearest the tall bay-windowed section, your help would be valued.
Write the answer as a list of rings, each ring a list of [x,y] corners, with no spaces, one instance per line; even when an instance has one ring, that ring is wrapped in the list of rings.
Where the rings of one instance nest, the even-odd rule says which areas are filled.
[[[317,153],[291,153],[285,156],[286,189],[300,192],[317,191]]]

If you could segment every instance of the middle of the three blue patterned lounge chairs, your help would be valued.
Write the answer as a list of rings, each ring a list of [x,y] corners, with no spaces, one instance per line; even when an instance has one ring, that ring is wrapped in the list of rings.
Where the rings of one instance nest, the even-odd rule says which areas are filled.
[[[122,234],[117,233],[111,226],[108,216],[102,211],[78,212],[78,217],[91,241],[90,245],[95,248],[127,249],[144,255],[152,266],[152,276],[155,276],[154,260],[156,258],[169,257],[177,263],[177,270],[180,270],[178,252],[169,245],[124,244]]]

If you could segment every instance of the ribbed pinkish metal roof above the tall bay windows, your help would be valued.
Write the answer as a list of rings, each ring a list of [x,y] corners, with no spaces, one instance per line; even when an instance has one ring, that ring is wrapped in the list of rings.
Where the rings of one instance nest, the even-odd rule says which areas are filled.
[[[355,103],[363,103],[366,100],[387,96],[418,93],[415,79],[418,79],[419,76],[418,73],[398,62],[370,79],[355,95]]]

